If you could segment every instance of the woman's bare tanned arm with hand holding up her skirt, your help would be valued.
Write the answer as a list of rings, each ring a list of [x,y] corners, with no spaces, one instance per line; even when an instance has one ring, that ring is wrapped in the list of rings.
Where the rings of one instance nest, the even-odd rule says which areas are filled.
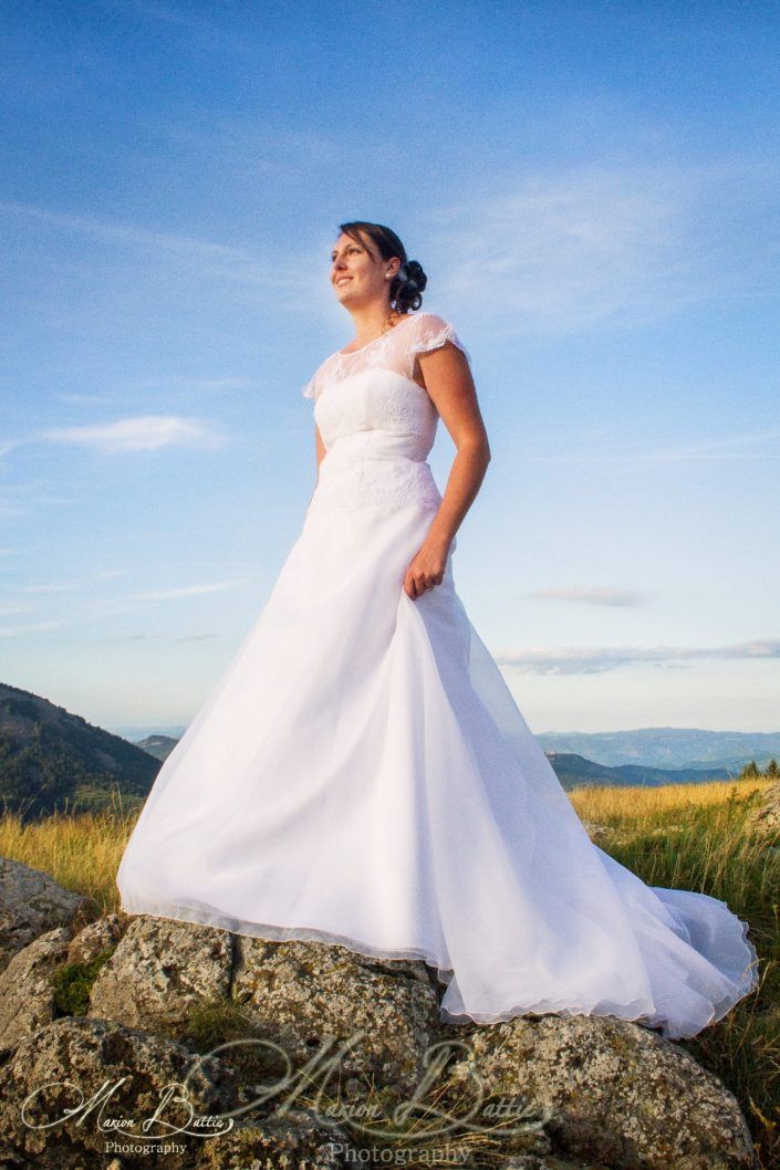
[[[452,343],[418,353],[425,388],[457,447],[439,509],[415,555],[404,590],[412,599],[444,579],[452,538],[477,498],[491,460],[477,388],[465,355]]]

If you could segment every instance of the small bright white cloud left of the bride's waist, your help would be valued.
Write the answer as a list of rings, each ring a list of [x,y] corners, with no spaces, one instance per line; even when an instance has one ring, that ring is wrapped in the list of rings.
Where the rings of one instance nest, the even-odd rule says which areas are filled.
[[[218,448],[228,441],[213,422],[165,414],[143,414],[83,427],[53,427],[42,431],[40,438],[105,452],[182,446]]]

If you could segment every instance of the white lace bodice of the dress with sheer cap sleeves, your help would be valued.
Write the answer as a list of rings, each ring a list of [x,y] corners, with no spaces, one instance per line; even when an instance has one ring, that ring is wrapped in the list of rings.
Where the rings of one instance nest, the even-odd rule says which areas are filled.
[[[417,353],[446,342],[471,357],[452,325],[433,312],[413,314],[367,345],[337,350],[303,386],[326,447],[310,510],[378,507],[410,501],[438,507],[442,496],[426,456],[438,411],[412,378]]]

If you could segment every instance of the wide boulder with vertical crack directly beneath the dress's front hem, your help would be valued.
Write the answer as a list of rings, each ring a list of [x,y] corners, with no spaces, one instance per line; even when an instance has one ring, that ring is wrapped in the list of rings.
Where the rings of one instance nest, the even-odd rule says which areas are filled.
[[[278,1046],[292,1068],[337,1058],[354,1093],[371,1083],[411,1093],[438,1030],[424,963],[145,915],[97,975],[88,1014],[186,1040],[193,1009],[219,1004],[238,1009],[246,1038],[269,1054]]]

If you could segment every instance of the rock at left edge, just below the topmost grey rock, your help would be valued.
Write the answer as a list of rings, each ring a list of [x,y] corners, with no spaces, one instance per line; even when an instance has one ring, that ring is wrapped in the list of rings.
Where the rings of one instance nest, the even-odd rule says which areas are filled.
[[[54,1019],[52,979],[69,944],[70,930],[56,927],[14,955],[0,973],[0,1052]]]

